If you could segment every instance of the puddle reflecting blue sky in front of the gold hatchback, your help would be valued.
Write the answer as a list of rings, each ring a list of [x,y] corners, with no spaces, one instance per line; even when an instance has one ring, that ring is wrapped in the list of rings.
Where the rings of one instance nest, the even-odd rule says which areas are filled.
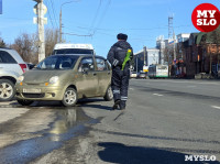
[[[79,107],[66,109],[51,108],[53,108],[57,116],[56,120],[50,124],[51,128],[45,131],[35,132],[42,134],[42,136],[19,141],[1,149],[0,163],[31,162],[53,150],[62,147],[65,141],[78,136],[79,134],[86,134],[89,128],[85,124],[99,122],[99,120],[87,117]]]

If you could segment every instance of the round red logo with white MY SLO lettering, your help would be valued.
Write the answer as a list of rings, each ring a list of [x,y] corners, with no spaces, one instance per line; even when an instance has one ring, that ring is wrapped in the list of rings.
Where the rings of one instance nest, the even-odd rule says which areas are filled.
[[[211,32],[220,24],[219,9],[211,3],[197,6],[191,13],[194,26],[201,32]]]

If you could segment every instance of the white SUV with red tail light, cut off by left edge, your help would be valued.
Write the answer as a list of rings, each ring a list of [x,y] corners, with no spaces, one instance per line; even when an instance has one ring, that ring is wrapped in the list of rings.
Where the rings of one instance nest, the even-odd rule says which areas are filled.
[[[28,69],[16,51],[0,48],[0,101],[13,99],[16,79]]]

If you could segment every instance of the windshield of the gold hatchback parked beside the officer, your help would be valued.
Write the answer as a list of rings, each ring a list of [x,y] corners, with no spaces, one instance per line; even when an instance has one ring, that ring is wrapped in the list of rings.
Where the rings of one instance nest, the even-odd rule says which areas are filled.
[[[36,69],[72,69],[78,56],[50,56],[37,64]]]

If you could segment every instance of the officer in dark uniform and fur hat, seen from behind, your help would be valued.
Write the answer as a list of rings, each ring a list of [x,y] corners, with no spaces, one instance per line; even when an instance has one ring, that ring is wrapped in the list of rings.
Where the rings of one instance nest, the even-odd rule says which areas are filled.
[[[111,89],[114,99],[112,109],[120,108],[124,110],[130,79],[130,62],[124,62],[124,58],[128,58],[128,52],[131,52],[129,55],[131,61],[133,58],[133,51],[131,45],[127,42],[127,34],[119,33],[117,39],[118,42],[111,46],[107,59],[112,66]]]

